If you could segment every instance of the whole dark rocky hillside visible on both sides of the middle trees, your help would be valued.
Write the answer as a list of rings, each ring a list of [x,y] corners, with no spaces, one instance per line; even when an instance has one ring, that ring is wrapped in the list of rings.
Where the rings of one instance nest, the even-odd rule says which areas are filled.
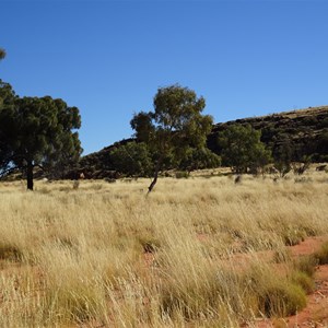
[[[312,155],[314,162],[328,161],[328,106],[284,112],[260,117],[251,117],[216,124],[208,137],[208,148],[220,154],[218,133],[231,125],[251,125],[262,131],[261,141],[272,149],[273,153],[281,143],[289,142],[293,157],[301,161],[303,155]],[[132,139],[126,139],[106,147],[103,150],[81,159],[79,172],[85,177],[116,177],[109,151]]]

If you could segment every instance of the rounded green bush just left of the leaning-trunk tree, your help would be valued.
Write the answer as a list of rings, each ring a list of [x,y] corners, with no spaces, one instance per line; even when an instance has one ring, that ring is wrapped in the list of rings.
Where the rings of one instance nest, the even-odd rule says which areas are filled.
[[[134,141],[110,151],[114,167],[127,176],[149,176],[153,169],[151,154],[144,142]]]

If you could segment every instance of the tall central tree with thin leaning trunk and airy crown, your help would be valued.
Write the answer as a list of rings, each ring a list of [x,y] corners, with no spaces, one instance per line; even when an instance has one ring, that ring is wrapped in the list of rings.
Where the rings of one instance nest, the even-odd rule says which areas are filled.
[[[177,163],[186,151],[203,148],[212,128],[212,117],[202,115],[203,97],[188,87],[160,87],[154,97],[154,112],[140,112],[131,120],[138,141],[148,144],[154,154],[154,177],[149,192],[157,181],[167,159]]]

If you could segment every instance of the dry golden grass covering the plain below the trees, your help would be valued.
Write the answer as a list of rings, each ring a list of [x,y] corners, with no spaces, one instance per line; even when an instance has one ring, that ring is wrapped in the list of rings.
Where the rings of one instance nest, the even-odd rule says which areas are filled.
[[[327,234],[328,175],[209,177],[149,197],[148,179],[1,183],[0,327],[237,327],[304,306],[285,245]]]

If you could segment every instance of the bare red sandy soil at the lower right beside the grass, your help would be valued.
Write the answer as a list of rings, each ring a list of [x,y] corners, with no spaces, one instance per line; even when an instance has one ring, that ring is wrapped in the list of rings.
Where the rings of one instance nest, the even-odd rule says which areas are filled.
[[[312,237],[290,247],[294,257],[317,251],[327,237]],[[280,319],[260,319],[253,327],[328,327],[328,266],[318,266],[315,273],[315,292],[307,296],[307,306],[296,315]]]

